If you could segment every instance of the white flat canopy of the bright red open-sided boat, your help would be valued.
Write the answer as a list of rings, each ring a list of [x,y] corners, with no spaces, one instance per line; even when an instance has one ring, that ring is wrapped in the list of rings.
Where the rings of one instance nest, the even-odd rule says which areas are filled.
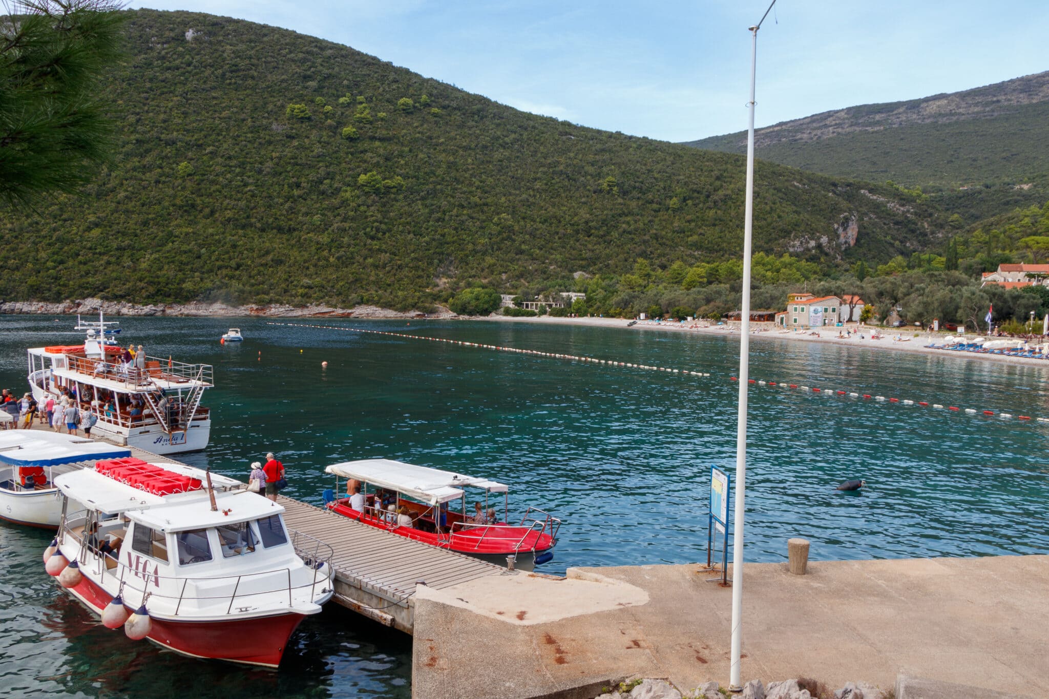
[[[435,505],[450,500],[457,500],[466,495],[466,486],[484,488],[494,493],[506,493],[502,483],[456,474],[451,471],[416,466],[390,459],[363,459],[336,463],[325,468],[329,474],[342,478],[356,478],[360,481],[403,493],[409,497]]]

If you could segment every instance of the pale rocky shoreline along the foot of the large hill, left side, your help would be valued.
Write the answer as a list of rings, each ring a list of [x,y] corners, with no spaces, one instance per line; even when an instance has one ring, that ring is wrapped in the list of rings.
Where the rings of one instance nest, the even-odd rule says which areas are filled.
[[[459,318],[442,306],[432,313],[420,311],[399,311],[379,306],[356,306],[337,308],[324,304],[309,306],[288,306],[284,304],[230,306],[223,303],[191,302],[187,304],[132,304],[125,301],[103,301],[102,299],[78,299],[48,303],[44,301],[0,301],[0,313],[34,313],[40,315],[71,315],[77,313],[98,313],[100,308],[107,315],[170,315],[186,318],[358,318],[358,319],[434,319]]]

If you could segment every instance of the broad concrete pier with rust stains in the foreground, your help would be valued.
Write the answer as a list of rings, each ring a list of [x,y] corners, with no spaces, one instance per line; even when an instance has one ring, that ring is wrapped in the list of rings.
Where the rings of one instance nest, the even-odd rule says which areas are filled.
[[[575,697],[631,675],[727,685],[731,590],[707,577],[694,565],[570,568],[563,583],[427,590],[415,598],[412,693]],[[903,672],[1045,691],[1049,556],[811,562],[804,576],[749,564],[745,585],[744,681],[890,689]]]

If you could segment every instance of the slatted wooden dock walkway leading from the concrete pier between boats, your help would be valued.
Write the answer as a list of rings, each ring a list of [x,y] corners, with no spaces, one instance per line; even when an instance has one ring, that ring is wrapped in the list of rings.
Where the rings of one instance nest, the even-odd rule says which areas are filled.
[[[39,424],[34,429],[48,430]],[[93,438],[116,443],[101,435]],[[143,461],[180,463],[176,458],[120,445]],[[512,574],[501,566],[376,529],[301,500],[278,496],[277,501],[284,507],[284,522],[293,538],[300,532],[331,548],[333,599],[409,634],[414,628],[416,585],[440,590],[487,575]],[[318,553],[328,556],[327,551]]]

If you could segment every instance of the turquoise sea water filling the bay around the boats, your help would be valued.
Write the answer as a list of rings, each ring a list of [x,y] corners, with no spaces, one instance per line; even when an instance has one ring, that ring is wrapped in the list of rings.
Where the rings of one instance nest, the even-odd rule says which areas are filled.
[[[243,477],[274,451],[290,472],[287,493],[314,502],[330,487],[324,466],[337,461],[455,467],[509,483],[512,509],[533,504],[563,519],[550,572],[705,559],[709,467],[734,465],[728,376],[737,337],[324,322],[711,374],[698,378],[256,319],[121,321],[125,342],[149,354],[215,366],[211,445],[189,463]],[[0,316],[0,386],[24,390],[25,348],[76,342],[73,324]],[[242,328],[242,345],[218,344],[230,325]],[[751,350],[754,378],[1049,417],[1047,368],[774,336]],[[1047,436],[1034,420],[752,386],[747,560],[785,560],[794,536],[812,541],[815,559],[1045,552]],[[833,489],[851,478],[868,488]],[[0,525],[0,686],[70,696],[157,686],[222,697],[409,695],[410,639],[336,607],[303,624],[279,673],[129,641],[60,593],[40,561],[47,541]]]

